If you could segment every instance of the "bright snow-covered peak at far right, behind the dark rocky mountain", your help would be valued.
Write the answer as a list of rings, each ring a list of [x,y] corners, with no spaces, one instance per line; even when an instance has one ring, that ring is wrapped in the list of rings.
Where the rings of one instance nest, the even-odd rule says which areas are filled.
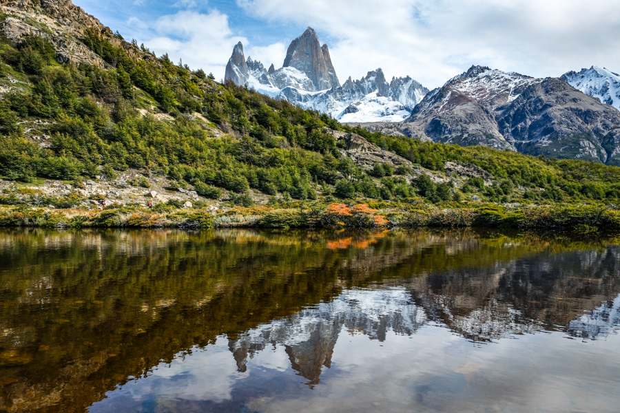
[[[602,103],[620,109],[620,75],[603,67],[592,66],[590,69],[581,69],[581,72],[568,72],[562,75],[575,89],[598,98]]]

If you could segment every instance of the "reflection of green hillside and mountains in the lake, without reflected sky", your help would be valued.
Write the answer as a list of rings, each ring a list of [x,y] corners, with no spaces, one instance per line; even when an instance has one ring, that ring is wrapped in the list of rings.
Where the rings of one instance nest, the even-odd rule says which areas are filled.
[[[0,410],[85,412],[223,339],[236,374],[282,346],[318,389],[342,335],[384,343],[432,324],[475,343],[605,337],[619,325],[618,241],[470,229],[3,230]]]

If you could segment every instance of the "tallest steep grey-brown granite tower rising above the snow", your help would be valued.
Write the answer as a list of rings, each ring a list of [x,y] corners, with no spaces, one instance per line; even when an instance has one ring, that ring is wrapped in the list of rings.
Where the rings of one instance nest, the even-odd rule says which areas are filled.
[[[295,67],[306,74],[314,85],[309,92],[340,87],[327,44],[320,45],[318,35],[312,28],[307,28],[304,34],[291,42],[284,67]]]

